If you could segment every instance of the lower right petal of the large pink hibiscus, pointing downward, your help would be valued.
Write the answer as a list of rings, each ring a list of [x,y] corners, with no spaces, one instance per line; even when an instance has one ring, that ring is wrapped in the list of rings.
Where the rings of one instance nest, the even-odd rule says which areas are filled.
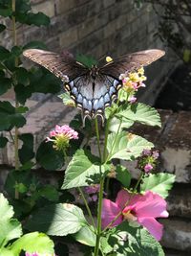
[[[138,218],[138,223],[146,227],[149,233],[159,241],[162,237],[163,225],[154,218]]]

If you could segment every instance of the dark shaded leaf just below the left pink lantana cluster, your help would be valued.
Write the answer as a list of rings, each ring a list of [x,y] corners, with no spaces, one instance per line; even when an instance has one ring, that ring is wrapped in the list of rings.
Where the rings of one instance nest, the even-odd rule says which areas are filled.
[[[53,149],[52,142],[43,141],[36,152],[36,161],[46,170],[53,171],[62,168],[64,155]]]

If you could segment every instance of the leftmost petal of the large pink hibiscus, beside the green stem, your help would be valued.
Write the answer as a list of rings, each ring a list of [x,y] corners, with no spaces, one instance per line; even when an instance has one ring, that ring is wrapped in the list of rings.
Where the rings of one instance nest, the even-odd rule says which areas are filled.
[[[102,228],[105,228],[111,221],[113,221],[119,212],[120,208],[117,206],[117,203],[109,199],[103,199],[101,213]],[[116,226],[120,222],[122,222],[122,216],[119,216],[117,221],[115,221],[111,226]]]

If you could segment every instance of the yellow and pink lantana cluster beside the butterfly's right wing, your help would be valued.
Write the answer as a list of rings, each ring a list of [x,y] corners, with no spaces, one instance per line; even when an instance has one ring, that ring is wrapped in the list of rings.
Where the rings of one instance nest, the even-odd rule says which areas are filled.
[[[135,92],[138,91],[139,87],[145,87],[146,85],[143,81],[146,81],[146,77],[144,76],[143,67],[138,69],[138,72],[125,72],[124,74],[120,74],[119,80],[122,81],[123,90],[129,93],[128,101],[132,104],[137,101],[137,98],[134,96]]]

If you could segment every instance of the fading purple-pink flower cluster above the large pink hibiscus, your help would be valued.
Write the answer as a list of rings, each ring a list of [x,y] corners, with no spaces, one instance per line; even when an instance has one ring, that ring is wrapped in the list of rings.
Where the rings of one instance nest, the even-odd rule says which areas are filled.
[[[156,168],[159,151],[143,150],[141,157],[138,159],[138,169],[149,174]]]

